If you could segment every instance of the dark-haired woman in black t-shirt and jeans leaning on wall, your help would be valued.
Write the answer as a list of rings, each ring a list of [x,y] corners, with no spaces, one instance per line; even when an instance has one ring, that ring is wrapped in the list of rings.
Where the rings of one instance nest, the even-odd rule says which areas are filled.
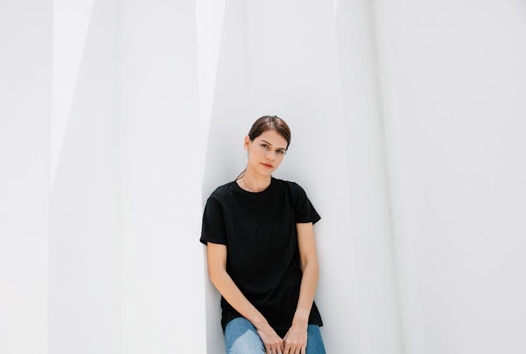
[[[222,294],[227,354],[325,354],[313,302],[320,216],[301,186],[271,176],[289,144],[281,118],[257,119],[245,137],[247,168],[205,205],[200,240]]]

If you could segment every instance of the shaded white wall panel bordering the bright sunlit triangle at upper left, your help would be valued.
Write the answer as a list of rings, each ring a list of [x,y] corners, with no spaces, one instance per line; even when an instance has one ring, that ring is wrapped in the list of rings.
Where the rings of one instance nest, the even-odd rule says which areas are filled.
[[[61,149],[50,201],[49,353],[121,352],[116,5],[89,9],[67,129],[51,140]]]

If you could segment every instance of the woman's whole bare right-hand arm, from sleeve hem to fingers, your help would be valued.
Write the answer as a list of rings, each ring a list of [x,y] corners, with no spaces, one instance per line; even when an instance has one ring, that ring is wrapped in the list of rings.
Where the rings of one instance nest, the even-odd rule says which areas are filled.
[[[318,284],[318,257],[316,257],[316,242],[312,222],[296,224],[296,228],[303,277],[292,326],[283,338],[285,341],[284,353],[288,354],[305,353],[309,314]]]

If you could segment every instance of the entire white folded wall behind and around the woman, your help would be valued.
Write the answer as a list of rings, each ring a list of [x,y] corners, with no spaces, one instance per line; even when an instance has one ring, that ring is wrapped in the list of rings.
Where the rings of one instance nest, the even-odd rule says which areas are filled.
[[[525,353],[526,6],[0,4],[0,352],[224,353],[198,242],[243,137],[322,219],[328,353]]]

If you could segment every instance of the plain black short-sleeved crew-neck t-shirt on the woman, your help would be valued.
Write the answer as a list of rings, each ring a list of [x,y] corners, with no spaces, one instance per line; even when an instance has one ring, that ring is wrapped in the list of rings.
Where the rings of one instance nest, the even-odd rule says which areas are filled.
[[[206,201],[201,243],[227,245],[227,273],[281,337],[292,325],[302,282],[296,223],[319,219],[299,184],[274,177],[259,192],[223,184]],[[221,308],[224,332],[241,314],[224,297]],[[311,324],[323,325],[314,303]]]

